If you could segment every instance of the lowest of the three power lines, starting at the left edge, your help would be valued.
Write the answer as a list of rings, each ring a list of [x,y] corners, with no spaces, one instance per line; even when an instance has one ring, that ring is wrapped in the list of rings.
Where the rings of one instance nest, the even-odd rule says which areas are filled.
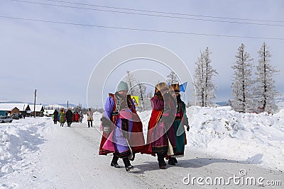
[[[141,29],[141,28],[123,28],[123,27],[114,27],[107,25],[90,25],[84,23],[67,23],[60,21],[45,21],[39,19],[31,19],[31,18],[18,18],[11,16],[0,16],[0,18],[11,18],[22,21],[36,21],[43,23],[58,23],[63,25],[82,25],[89,27],[97,27],[97,28],[112,28],[112,29],[121,29],[121,30],[138,30],[138,31],[147,31],[147,32],[155,32],[155,33],[173,33],[173,34],[185,34],[185,35],[204,35],[204,36],[215,36],[215,37],[224,37],[224,38],[251,38],[251,39],[263,39],[263,40],[284,40],[284,38],[261,38],[261,37],[251,37],[251,36],[239,36],[239,35],[217,35],[217,34],[207,34],[207,33],[187,33],[187,32],[177,32],[177,31],[168,31],[168,30],[149,30],[149,29]]]

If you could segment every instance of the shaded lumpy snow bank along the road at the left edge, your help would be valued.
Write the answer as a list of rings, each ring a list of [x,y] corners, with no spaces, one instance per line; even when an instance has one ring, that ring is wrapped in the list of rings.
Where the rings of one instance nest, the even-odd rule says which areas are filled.
[[[0,124],[0,177],[21,169],[25,164],[19,161],[26,161],[26,154],[38,150],[38,144],[43,143],[39,128],[45,126],[44,120],[26,118]]]

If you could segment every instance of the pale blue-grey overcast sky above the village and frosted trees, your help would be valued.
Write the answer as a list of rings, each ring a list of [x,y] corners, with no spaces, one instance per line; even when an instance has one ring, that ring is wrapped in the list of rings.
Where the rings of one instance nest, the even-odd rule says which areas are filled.
[[[263,42],[270,47],[271,64],[280,70],[274,77],[277,91],[284,93],[284,1],[75,1],[81,4],[113,6],[121,8],[161,11],[172,17],[143,16],[109,11],[124,9],[63,4],[46,0],[26,0],[44,4],[60,4],[84,8],[64,8],[43,4],[28,4],[19,1],[1,0],[0,16],[29,18],[41,21],[104,25],[143,30],[165,30],[175,33],[155,33],[138,30],[98,28],[82,25],[65,25],[36,21],[23,21],[0,17],[0,101],[33,102],[35,88],[38,103],[82,103],[87,104],[87,85],[96,64],[116,48],[134,43],[151,43],[163,46],[178,55],[194,74],[195,62],[200,51],[206,47],[212,52],[212,67],[217,69],[214,77],[217,86],[216,101],[231,98],[231,66],[235,62],[237,49],[244,43],[246,51],[257,65],[258,50]],[[134,11],[127,11],[134,12]],[[136,13],[149,13],[138,12]],[[165,14],[163,14],[165,16]],[[200,17],[203,16],[203,17]],[[240,18],[236,20],[221,19]],[[194,18],[194,19],[191,19]],[[197,20],[202,19],[202,20]],[[251,20],[265,20],[249,21]],[[215,21],[204,21],[215,20]],[[216,21],[217,20],[217,21]],[[220,22],[222,21],[222,22]],[[239,22],[239,23],[228,23]],[[273,21],[273,22],[268,22]],[[278,22],[276,22],[278,21]],[[242,22],[242,23],[240,23]],[[258,24],[244,24],[258,23]],[[266,24],[266,25],[263,25]],[[283,25],[283,26],[281,26]],[[234,35],[253,38],[229,38],[212,35]],[[261,39],[254,39],[261,38]],[[278,39],[264,39],[278,38]],[[282,39],[282,40],[281,40]],[[129,70],[138,69],[138,61],[129,65]],[[151,67],[158,69],[158,67]],[[126,70],[121,70],[121,75]],[[163,73],[165,75],[169,73]],[[114,82],[114,89],[117,82]],[[109,92],[114,92],[109,91]],[[102,102],[98,99],[98,105]]]

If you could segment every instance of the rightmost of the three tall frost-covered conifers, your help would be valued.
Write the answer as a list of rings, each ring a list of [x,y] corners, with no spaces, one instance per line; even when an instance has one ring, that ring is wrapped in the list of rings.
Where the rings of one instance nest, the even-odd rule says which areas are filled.
[[[275,105],[275,96],[278,93],[275,91],[273,74],[278,72],[271,65],[271,52],[269,47],[263,42],[261,49],[258,51],[258,66],[256,67],[256,86],[253,90],[258,108],[261,111],[271,113],[277,110]]]

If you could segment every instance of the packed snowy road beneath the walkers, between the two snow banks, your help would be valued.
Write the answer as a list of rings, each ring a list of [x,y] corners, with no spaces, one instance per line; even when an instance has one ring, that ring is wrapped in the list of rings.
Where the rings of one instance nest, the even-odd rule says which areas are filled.
[[[189,149],[185,157],[179,159],[177,166],[167,166],[165,170],[158,168],[155,157],[138,154],[133,161],[135,168],[126,172],[124,168],[109,166],[111,156],[98,155],[100,135],[95,128],[88,128],[85,123],[74,123],[70,128],[58,125],[46,128],[44,132],[48,142],[40,156],[42,167],[33,183],[35,188],[192,188],[192,183],[185,185],[182,181],[188,174],[196,178],[224,177],[227,180],[230,176],[239,176],[241,169],[246,169],[249,177],[261,176],[266,181],[284,182],[284,174],[279,171],[240,161],[218,159]],[[122,166],[123,162],[119,160],[119,164]],[[196,180],[193,185],[193,188],[208,187],[209,185],[198,185]],[[240,188],[244,185],[235,185],[231,181],[230,185],[210,187]],[[253,188],[260,186],[256,184]]]

